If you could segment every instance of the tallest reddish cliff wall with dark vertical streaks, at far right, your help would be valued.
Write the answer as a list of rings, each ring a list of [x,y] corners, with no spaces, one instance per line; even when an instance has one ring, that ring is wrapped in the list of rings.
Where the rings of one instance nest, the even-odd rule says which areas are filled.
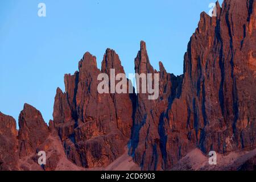
[[[255,145],[256,80],[250,54],[256,51],[256,29],[251,27],[251,23],[255,26],[256,3],[224,1],[222,9],[218,3],[216,7],[217,17],[201,14],[185,53],[181,97],[167,117],[171,123],[182,122],[187,110],[186,130],[181,131],[189,143],[204,153],[226,154]],[[184,102],[187,107],[180,112]],[[187,144],[179,148],[176,159],[168,156],[166,167],[189,150]]]

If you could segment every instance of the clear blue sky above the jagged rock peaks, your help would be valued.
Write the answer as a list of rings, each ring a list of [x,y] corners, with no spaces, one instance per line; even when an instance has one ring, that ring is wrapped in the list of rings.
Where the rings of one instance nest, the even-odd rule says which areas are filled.
[[[46,4],[46,17],[38,4]],[[74,73],[82,55],[106,48],[134,73],[139,42],[147,44],[155,69],[183,73],[183,56],[200,13],[215,0],[3,0],[0,1],[0,111],[18,122],[24,103],[52,119],[56,88]],[[222,1],[219,1],[222,3]]]

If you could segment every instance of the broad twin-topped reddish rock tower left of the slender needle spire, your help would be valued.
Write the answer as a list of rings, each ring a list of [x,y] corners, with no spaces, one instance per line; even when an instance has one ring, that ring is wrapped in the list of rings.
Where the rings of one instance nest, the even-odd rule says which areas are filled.
[[[118,55],[107,49],[101,71],[96,57],[86,52],[79,72],[65,75],[65,93],[57,89],[53,122],[68,159],[78,166],[107,166],[122,155],[130,139],[133,102],[129,93],[100,94],[97,77],[110,69],[124,73]],[[109,77],[110,78],[110,77]]]

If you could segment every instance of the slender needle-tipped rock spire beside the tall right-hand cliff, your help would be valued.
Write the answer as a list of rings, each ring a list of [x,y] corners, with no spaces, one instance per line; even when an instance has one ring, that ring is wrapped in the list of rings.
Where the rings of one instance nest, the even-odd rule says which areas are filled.
[[[135,162],[144,170],[159,170],[161,161],[166,153],[166,135],[163,128],[164,111],[171,106],[172,100],[179,95],[183,76],[174,76],[167,73],[163,64],[159,62],[160,71],[152,68],[148,59],[146,44],[141,42],[141,49],[135,58],[135,72],[159,74],[159,97],[157,100],[148,100],[148,93],[142,93],[142,81],[139,82],[140,92],[137,94],[137,105],[131,137],[130,154]],[[137,84],[138,85],[138,84]],[[152,84],[154,85],[154,84]]]

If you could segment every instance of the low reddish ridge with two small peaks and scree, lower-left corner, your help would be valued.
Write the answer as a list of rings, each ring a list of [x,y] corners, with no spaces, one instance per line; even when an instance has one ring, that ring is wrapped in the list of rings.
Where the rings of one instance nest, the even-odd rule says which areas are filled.
[[[0,146],[3,171],[79,169],[68,161],[52,121],[48,127],[40,111],[28,104],[20,112],[18,132],[15,119],[0,113]],[[39,151],[46,152],[46,164],[41,166]]]

